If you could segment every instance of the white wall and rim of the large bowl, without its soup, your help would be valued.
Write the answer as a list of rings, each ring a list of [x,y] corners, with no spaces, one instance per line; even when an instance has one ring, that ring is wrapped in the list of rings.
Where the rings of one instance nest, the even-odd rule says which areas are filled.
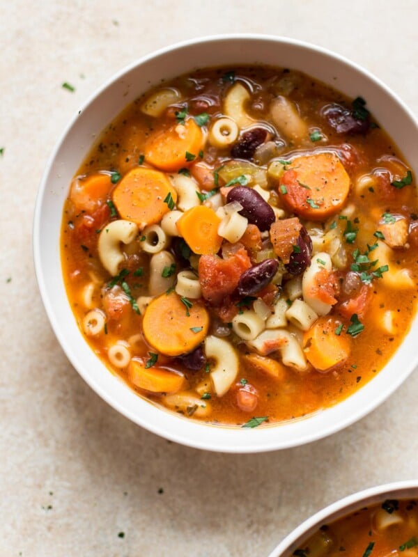
[[[418,125],[385,85],[357,65],[324,49],[291,39],[240,35],[183,42],[142,58],[110,79],[82,107],[59,139],[40,184],[33,230],[36,274],[45,308],[63,350],[86,382],[111,406],[148,430],[185,445],[234,453],[297,446],[332,434],[378,406],[418,362],[418,320],[392,361],[357,393],[307,418],[259,429],[206,425],[164,411],[112,375],[86,344],[65,294],[59,235],[70,181],[95,136],[128,103],[162,78],[196,68],[263,63],[307,72],[350,97],[362,95],[373,116],[401,147],[418,175]]]

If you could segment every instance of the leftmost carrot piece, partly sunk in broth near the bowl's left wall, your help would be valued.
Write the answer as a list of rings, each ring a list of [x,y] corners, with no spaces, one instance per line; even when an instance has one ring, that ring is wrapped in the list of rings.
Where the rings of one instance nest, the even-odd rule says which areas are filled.
[[[92,212],[100,203],[104,203],[110,187],[109,174],[96,173],[77,178],[71,185],[70,200],[77,209]]]

